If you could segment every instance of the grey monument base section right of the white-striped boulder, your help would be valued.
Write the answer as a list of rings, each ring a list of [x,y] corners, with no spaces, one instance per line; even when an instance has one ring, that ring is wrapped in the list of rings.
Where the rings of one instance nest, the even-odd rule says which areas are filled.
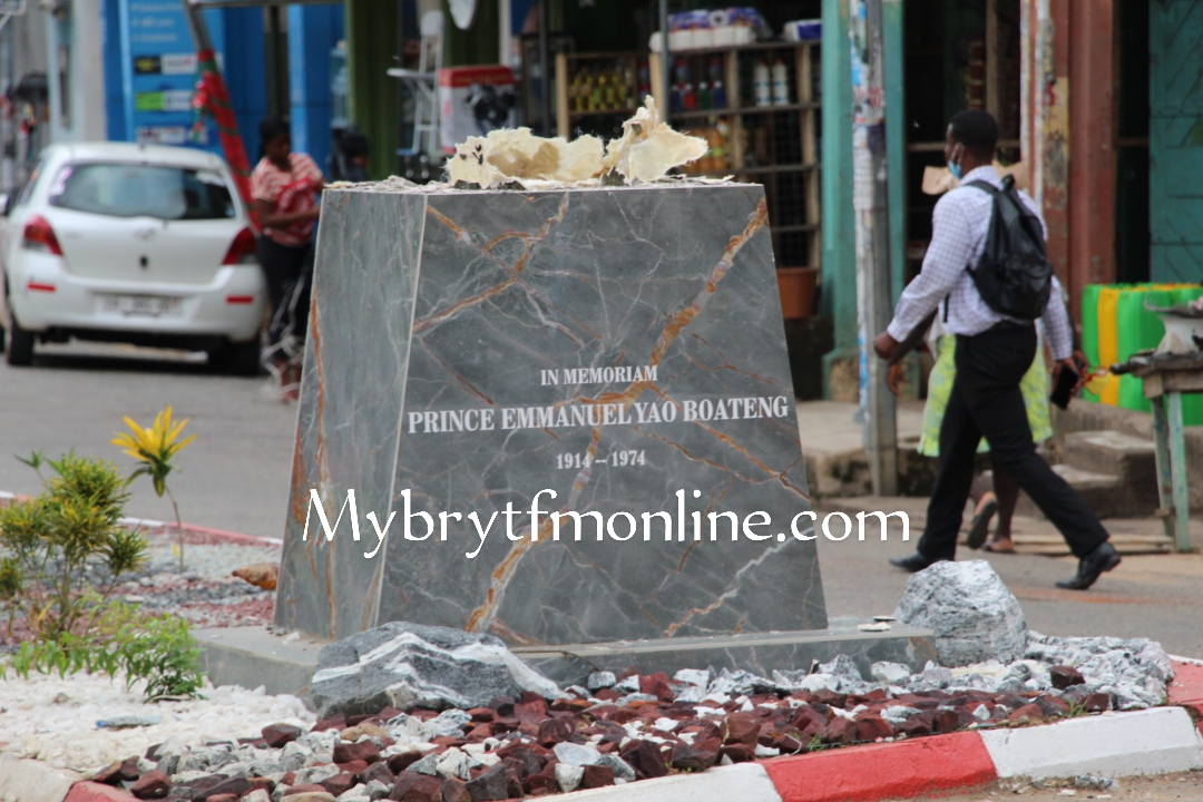
[[[893,623],[884,632],[857,629],[858,618],[832,618],[828,629],[793,632],[747,632],[711,637],[666,637],[647,641],[608,641],[556,646],[512,647],[514,653],[561,684],[585,684],[593,671],[621,673],[635,666],[640,673],[663,671],[670,677],[681,669],[716,671],[742,669],[770,677],[775,669],[808,669],[813,660],[826,663],[837,654],[857,661],[870,676],[873,663],[905,663],[923,671],[936,659],[935,631]]]

